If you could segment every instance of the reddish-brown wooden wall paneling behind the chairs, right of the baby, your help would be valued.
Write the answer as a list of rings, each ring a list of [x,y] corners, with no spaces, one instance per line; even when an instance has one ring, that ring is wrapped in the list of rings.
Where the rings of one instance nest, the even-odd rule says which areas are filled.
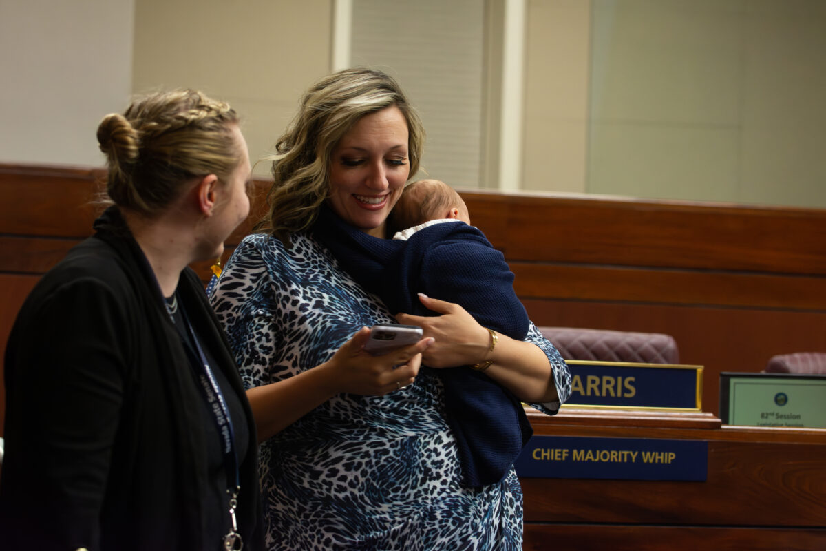
[[[463,192],[537,325],[672,335],[719,373],[826,351],[826,211]]]

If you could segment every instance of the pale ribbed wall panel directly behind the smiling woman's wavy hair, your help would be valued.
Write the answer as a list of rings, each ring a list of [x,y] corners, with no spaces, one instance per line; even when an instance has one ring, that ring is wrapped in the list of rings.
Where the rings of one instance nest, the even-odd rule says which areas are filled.
[[[426,175],[478,187],[484,2],[354,0],[353,6],[350,65],[385,70],[404,88],[427,132]]]

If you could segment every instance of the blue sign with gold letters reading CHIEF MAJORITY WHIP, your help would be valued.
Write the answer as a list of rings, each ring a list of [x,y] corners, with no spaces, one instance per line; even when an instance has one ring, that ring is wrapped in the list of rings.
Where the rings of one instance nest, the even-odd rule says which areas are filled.
[[[532,436],[514,464],[525,478],[705,481],[705,440]]]

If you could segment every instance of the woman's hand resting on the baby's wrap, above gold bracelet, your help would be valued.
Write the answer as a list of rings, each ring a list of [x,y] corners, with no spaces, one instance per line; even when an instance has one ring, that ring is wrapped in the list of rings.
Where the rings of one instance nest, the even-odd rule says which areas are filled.
[[[431,368],[455,368],[481,362],[491,346],[491,334],[479,325],[462,306],[444,302],[419,293],[420,302],[440,316],[396,314],[396,320],[406,325],[419,325],[425,337],[433,337],[423,353],[425,365]]]

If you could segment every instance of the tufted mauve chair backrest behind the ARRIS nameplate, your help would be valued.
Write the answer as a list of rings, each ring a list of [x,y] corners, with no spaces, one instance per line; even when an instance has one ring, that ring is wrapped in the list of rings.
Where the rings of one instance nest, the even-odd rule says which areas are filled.
[[[680,363],[676,340],[671,335],[577,327],[539,327],[539,330],[564,359]]]

